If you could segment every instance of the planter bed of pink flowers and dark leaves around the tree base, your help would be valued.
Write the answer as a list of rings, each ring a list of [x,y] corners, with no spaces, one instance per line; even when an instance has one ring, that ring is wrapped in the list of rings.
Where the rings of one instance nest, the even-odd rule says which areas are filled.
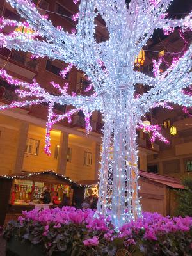
[[[119,232],[95,212],[62,209],[23,212],[3,230],[7,256],[191,256],[192,218],[143,212]],[[145,227],[145,228],[144,228]]]

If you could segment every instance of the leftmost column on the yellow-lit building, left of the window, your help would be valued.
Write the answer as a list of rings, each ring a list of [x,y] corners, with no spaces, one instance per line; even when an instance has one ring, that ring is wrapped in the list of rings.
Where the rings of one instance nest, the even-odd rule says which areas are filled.
[[[15,159],[14,173],[19,173],[22,171],[22,166],[24,162],[24,153],[26,151],[26,143],[28,139],[29,123],[22,122],[19,131],[19,141],[17,144],[17,154]]]

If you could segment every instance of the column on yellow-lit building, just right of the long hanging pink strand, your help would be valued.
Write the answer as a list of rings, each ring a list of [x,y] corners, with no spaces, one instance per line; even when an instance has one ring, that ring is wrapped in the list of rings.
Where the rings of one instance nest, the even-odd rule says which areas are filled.
[[[68,133],[61,132],[57,172],[62,175],[65,175],[66,173],[67,150],[68,150]]]

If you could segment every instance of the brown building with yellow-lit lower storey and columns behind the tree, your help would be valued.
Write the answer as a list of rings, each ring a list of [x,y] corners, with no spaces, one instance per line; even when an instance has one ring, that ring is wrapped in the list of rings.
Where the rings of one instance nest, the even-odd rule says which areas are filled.
[[[77,12],[77,6],[71,1],[34,1],[42,14],[48,14],[54,26],[63,26],[71,31],[75,24],[70,18],[72,13]],[[21,20],[20,16],[8,3],[0,0],[1,15],[6,19]],[[102,42],[108,38],[103,20],[98,16],[95,38]],[[143,70],[151,72],[150,56],[146,56]],[[76,92],[88,95],[92,92],[84,92],[88,80],[83,72],[72,68],[65,80],[59,73],[65,68],[65,63],[47,58],[31,59],[31,54],[22,51],[9,51],[0,49],[0,65],[8,71],[8,74],[22,81],[30,82],[32,79],[45,88],[48,92],[58,93],[52,88],[50,81],[58,84],[68,83],[68,92]],[[138,92],[145,92],[142,85],[138,85]],[[15,86],[0,80],[1,104],[8,104],[13,100],[19,100],[15,93]],[[70,106],[55,105],[57,113],[65,113]],[[51,132],[51,156],[44,153],[45,122],[47,120],[47,104],[28,106],[6,110],[0,113],[0,173],[11,174],[20,171],[38,172],[41,170],[54,170],[66,175],[72,180],[94,180],[98,177],[100,145],[102,143],[102,114],[95,112],[91,118],[93,131],[90,135],[85,134],[83,114],[75,115],[72,123],[63,120],[54,125]],[[163,114],[164,115],[164,114]],[[152,115],[148,115],[152,123],[163,122]],[[175,137],[176,138],[176,137]],[[150,137],[143,131],[138,131],[140,170],[152,171],[151,166],[159,166],[157,172],[163,171],[163,154],[159,153],[159,145],[150,143]],[[161,144],[160,144],[161,147]],[[163,146],[162,146],[163,147]],[[162,161],[157,161],[156,157]],[[162,157],[161,157],[162,156]],[[167,156],[167,155],[166,155]],[[188,158],[186,155],[184,159]],[[172,157],[167,161],[172,160]],[[157,163],[158,162],[158,163]],[[161,163],[162,162],[162,163]],[[160,168],[161,167],[161,168]],[[176,172],[177,173],[177,172]],[[169,173],[166,173],[169,175]],[[172,173],[170,173],[172,175]]]

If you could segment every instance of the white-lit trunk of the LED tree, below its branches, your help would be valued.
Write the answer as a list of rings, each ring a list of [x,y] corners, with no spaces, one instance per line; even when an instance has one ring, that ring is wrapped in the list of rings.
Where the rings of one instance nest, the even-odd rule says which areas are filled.
[[[116,227],[141,216],[138,199],[136,126],[132,97],[120,89],[106,104],[97,212],[111,215]]]

